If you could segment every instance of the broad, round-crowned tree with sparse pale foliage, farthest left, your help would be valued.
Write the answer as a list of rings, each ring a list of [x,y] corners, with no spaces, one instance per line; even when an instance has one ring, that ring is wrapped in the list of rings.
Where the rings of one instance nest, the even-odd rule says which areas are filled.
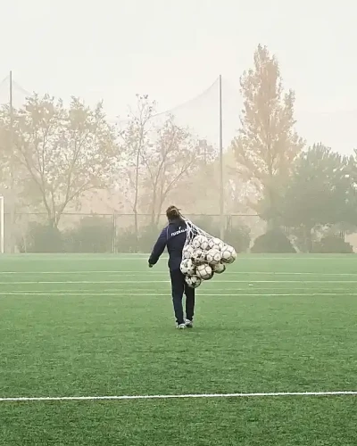
[[[14,113],[13,128],[16,160],[50,227],[70,202],[110,181],[116,142],[102,103],[91,109],[72,97],[66,109],[54,97],[33,95]]]

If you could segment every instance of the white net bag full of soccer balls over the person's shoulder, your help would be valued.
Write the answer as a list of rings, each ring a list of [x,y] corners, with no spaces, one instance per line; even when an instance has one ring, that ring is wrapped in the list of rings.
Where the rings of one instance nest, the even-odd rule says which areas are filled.
[[[214,274],[221,274],[228,264],[237,259],[237,252],[220,238],[204,232],[192,221],[186,220],[187,240],[182,251],[180,269],[187,285],[197,288]]]

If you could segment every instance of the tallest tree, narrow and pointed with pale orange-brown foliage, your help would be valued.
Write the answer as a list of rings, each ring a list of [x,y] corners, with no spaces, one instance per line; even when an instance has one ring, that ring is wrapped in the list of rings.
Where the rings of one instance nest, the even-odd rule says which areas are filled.
[[[240,78],[244,107],[232,148],[238,174],[259,197],[251,206],[274,227],[278,197],[304,142],[295,131],[295,94],[285,92],[276,57],[259,45],[253,59]]]

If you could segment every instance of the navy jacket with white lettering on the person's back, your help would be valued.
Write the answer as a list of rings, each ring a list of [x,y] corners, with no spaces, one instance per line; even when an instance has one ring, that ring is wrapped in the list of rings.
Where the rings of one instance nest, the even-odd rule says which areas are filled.
[[[182,250],[186,242],[187,226],[185,221],[176,219],[170,221],[167,227],[162,229],[153,252],[149,258],[149,263],[155,265],[160,259],[165,247],[169,252],[169,268],[170,271],[179,269],[182,260]]]

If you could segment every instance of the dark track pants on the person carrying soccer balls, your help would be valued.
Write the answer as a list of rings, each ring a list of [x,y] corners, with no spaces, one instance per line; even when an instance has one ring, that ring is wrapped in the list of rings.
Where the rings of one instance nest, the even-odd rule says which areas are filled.
[[[175,311],[176,322],[185,322],[182,298],[186,295],[186,317],[193,320],[195,312],[195,289],[190,288],[185,282],[185,276],[179,269],[170,271],[173,310]]]

